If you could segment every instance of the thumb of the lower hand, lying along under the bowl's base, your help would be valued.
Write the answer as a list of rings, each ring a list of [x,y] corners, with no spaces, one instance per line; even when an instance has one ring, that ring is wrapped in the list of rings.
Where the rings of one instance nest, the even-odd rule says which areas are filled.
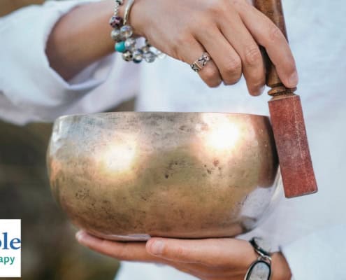
[[[164,239],[147,241],[147,252],[172,262],[195,263],[210,267],[248,267],[256,260],[252,246],[238,239]]]

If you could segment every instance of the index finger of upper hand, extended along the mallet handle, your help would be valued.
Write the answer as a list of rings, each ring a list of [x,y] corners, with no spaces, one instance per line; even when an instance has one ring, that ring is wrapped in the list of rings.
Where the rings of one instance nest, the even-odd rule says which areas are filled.
[[[244,6],[244,5],[243,5]],[[296,87],[298,73],[289,44],[274,23],[253,6],[238,7],[240,18],[254,39],[266,48],[277,74],[286,87]]]

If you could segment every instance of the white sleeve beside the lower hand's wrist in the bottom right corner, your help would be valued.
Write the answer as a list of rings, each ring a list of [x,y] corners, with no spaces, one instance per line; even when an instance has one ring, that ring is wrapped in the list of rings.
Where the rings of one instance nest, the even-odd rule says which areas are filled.
[[[294,280],[345,279],[346,224],[318,230],[281,247]]]

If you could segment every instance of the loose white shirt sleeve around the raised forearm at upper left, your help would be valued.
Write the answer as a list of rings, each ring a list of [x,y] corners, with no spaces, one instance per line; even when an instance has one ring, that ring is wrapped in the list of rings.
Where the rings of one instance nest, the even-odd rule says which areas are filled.
[[[107,80],[115,60],[122,60],[115,55],[105,57],[70,81],[50,68],[45,54],[50,32],[62,15],[83,2],[86,1],[48,1],[0,18],[0,118],[23,124],[54,120],[66,112],[84,113],[73,108],[80,107],[78,102]],[[124,64],[120,63],[122,67]],[[115,72],[122,75],[121,71]],[[113,90],[117,89],[113,86]],[[122,95],[126,91],[124,86],[117,90]],[[113,104],[107,101],[108,106],[123,99],[115,97]]]

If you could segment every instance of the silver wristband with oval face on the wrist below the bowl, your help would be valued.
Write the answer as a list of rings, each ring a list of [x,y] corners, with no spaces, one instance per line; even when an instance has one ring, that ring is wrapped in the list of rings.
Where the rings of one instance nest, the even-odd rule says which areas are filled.
[[[266,246],[264,239],[254,237],[250,241],[254,251],[259,255],[257,260],[252,262],[244,280],[270,280],[271,279],[271,253]]]

